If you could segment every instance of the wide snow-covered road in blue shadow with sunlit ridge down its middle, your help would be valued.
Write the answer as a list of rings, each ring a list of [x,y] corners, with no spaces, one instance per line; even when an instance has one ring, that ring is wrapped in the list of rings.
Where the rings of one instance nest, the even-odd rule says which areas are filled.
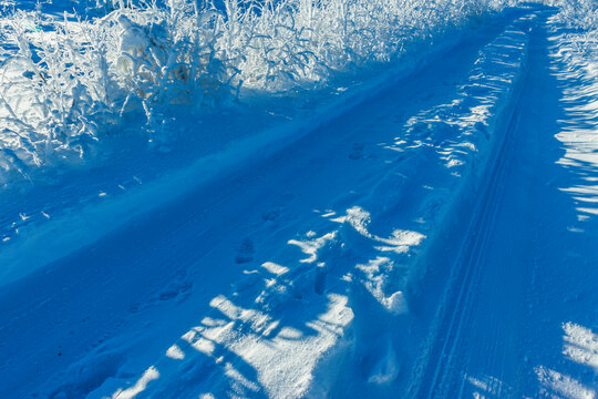
[[[0,397],[596,397],[598,75],[553,14],[2,287]]]

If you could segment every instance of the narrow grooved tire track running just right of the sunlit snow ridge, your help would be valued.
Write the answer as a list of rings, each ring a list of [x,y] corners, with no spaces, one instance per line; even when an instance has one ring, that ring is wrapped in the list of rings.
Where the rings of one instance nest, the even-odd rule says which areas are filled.
[[[508,29],[507,29],[508,30]],[[424,359],[424,372],[416,382],[414,390],[417,398],[455,398],[464,393],[465,379],[461,380],[458,387],[453,386],[454,364],[456,351],[466,320],[472,311],[472,304],[475,298],[474,287],[482,278],[483,249],[493,238],[493,226],[499,215],[498,208],[505,195],[505,181],[507,165],[513,158],[513,149],[516,145],[515,131],[520,121],[520,114],[513,112],[520,106],[523,96],[520,92],[527,81],[527,68],[524,66],[520,82],[522,89],[514,96],[509,116],[509,122],[504,130],[504,139],[497,149],[496,157],[489,165],[488,178],[482,188],[482,198],[476,202],[470,226],[463,238],[463,245],[454,262],[453,273],[446,286],[446,290],[437,309],[435,321],[431,329],[430,346],[427,356]],[[494,344],[497,344],[496,341]],[[496,345],[489,346],[492,352],[496,354]],[[492,354],[488,357],[494,358]],[[464,359],[458,359],[461,362]],[[499,388],[498,388],[499,389]]]

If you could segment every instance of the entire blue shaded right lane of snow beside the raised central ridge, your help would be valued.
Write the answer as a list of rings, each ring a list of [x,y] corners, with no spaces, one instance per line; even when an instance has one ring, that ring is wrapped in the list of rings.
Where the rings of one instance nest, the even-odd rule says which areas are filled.
[[[597,347],[582,341],[598,341],[591,332],[597,296],[588,294],[596,273],[586,269],[596,265],[596,221],[576,215],[558,187],[597,170],[571,173],[557,165],[559,122],[571,114],[563,104],[566,86],[556,79],[563,64],[549,54],[551,14],[540,12],[534,24],[528,73],[462,238],[417,398],[596,396],[589,359]],[[573,358],[570,345],[579,345],[585,359]]]

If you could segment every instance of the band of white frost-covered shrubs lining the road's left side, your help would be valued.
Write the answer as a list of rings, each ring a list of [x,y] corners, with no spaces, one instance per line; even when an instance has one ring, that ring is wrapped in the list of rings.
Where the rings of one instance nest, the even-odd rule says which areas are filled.
[[[83,157],[125,114],[172,104],[218,106],[243,88],[321,86],[339,72],[390,62],[495,0],[97,0],[107,14],[56,20],[14,12],[0,66],[0,167]]]

